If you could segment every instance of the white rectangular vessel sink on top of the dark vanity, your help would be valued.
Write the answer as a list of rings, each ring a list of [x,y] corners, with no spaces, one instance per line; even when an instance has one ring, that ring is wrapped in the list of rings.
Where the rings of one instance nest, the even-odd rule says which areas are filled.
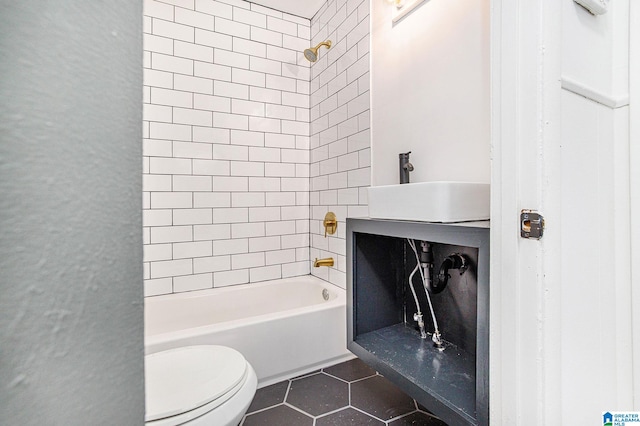
[[[466,222],[489,219],[489,184],[418,182],[369,188],[369,216],[375,219]]]

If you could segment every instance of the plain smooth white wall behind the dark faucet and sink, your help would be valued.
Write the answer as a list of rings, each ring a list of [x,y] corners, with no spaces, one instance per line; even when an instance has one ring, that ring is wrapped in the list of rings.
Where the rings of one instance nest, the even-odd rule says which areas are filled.
[[[395,25],[372,5],[372,185],[489,182],[489,1],[427,1]]]

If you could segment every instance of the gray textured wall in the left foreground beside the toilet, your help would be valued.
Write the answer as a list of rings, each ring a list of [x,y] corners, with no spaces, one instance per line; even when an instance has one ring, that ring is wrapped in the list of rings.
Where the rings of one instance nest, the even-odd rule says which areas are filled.
[[[0,7],[0,422],[142,424],[141,4]]]

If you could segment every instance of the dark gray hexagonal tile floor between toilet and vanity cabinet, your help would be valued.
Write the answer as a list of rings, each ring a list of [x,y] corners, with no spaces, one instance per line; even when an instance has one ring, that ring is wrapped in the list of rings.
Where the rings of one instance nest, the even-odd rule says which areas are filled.
[[[446,426],[359,359],[258,389],[242,426]]]

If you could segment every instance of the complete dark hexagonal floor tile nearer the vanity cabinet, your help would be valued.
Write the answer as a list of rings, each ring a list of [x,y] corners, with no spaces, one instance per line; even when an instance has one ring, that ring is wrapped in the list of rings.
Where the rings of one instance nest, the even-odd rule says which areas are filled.
[[[351,405],[385,421],[416,410],[413,399],[382,376],[352,383]]]

